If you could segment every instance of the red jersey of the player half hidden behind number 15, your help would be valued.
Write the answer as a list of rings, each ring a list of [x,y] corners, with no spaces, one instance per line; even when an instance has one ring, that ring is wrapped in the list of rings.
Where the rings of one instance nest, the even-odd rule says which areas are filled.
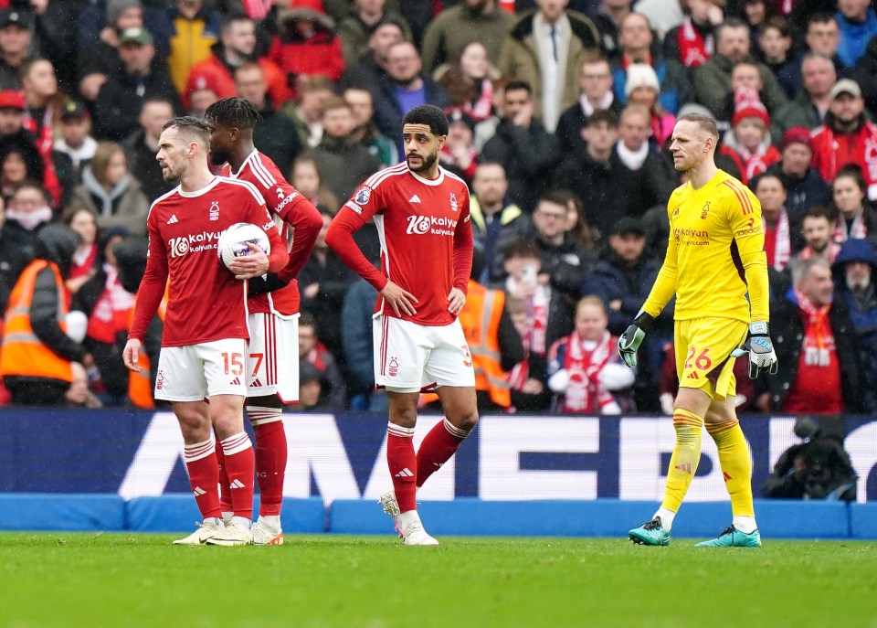
[[[313,207],[311,201],[302,197],[299,191],[283,178],[280,168],[268,155],[257,150],[248,155],[237,173],[231,172],[231,165],[226,164],[222,166],[219,174],[248,181],[256,186],[265,198],[265,204],[274,217],[277,228],[280,229],[280,237],[288,243],[290,251],[290,263],[279,273],[282,279],[289,281],[289,284],[271,293],[250,296],[247,301],[249,311],[264,314],[271,312],[283,315],[298,314],[301,299],[299,283],[295,277],[308,261],[313,243],[322,228],[320,212]]]

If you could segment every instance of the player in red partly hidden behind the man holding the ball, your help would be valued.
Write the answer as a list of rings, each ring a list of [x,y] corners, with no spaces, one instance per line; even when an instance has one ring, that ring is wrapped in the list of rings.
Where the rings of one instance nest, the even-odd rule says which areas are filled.
[[[308,260],[322,229],[322,217],[311,202],[287,183],[270,157],[253,145],[253,127],[262,118],[242,98],[223,98],[207,107],[210,161],[219,172],[248,181],[265,197],[280,234],[291,241],[290,262],[265,279],[249,280],[249,359],[247,415],[256,435],[259,520],[253,524],[255,545],[282,545],[280,506],[286,477],[287,442],[284,403],[299,399],[299,288],[296,275]],[[222,515],[231,516],[231,486],[219,459]]]

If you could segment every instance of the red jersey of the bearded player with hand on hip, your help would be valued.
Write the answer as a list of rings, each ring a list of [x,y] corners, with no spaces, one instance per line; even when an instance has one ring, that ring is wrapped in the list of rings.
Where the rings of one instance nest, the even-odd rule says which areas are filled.
[[[449,325],[448,293],[466,292],[472,253],[469,188],[459,176],[439,167],[435,180],[417,176],[407,163],[370,176],[341,212],[375,219],[381,240],[381,271],[417,298],[417,314],[402,318],[419,325]],[[467,252],[468,251],[468,252]],[[468,254],[456,269],[455,254]],[[465,275],[465,277],[458,275]],[[375,312],[396,316],[378,295]]]

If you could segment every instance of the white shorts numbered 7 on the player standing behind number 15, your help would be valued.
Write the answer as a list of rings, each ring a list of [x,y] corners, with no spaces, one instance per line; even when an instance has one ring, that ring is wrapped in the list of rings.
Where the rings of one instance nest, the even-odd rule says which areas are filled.
[[[249,314],[248,397],[299,400],[299,314]]]

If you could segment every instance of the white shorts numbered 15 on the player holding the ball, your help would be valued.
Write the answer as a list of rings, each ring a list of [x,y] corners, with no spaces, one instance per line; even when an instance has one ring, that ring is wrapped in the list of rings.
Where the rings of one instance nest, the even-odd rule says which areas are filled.
[[[162,347],[155,399],[201,401],[214,395],[247,396],[246,338]]]

